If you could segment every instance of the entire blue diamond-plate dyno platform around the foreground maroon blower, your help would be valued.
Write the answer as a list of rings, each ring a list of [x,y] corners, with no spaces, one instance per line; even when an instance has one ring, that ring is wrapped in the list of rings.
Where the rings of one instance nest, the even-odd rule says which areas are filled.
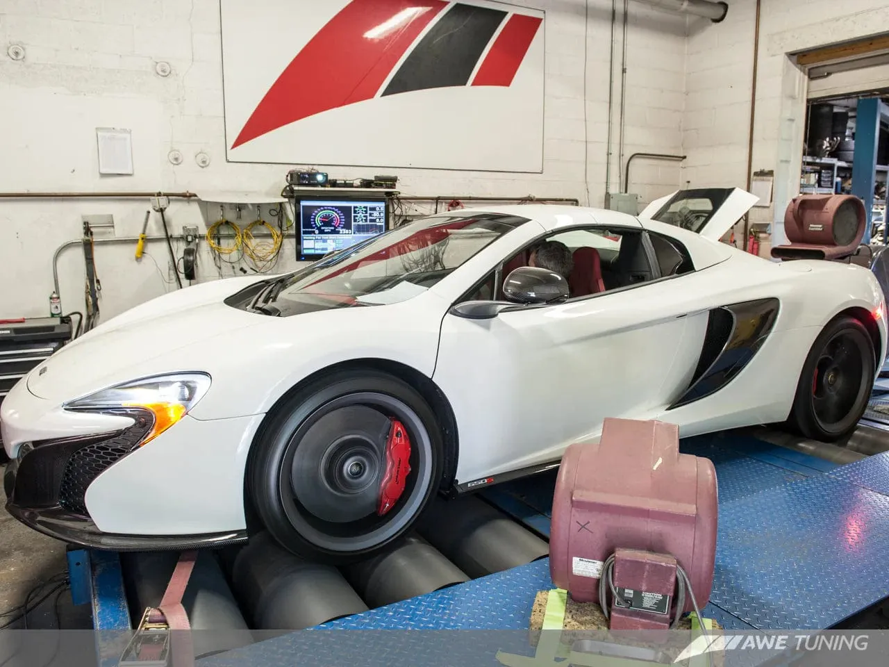
[[[726,629],[825,629],[889,595],[889,453],[845,466],[756,438],[687,438],[714,462],[717,566],[704,614]],[[495,486],[485,498],[549,534],[555,474]],[[350,616],[324,628],[520,630],[549,560]]]

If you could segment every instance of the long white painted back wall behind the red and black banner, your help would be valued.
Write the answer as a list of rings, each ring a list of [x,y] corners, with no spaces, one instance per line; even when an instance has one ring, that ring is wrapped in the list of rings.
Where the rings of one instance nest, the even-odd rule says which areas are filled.
[[[548,9],[543,173],[399,170],[404,194],[533,194],[602,204],[612,2],[541,4]],[[622,53],[622,3],[616,4],[615,123]],[[7,57],[10,44],[25,48],[24,60]],[[679,152],[685,18],[631,2],[627,52],[624,154]],[[172,65],[171,76],[156,75],[159,60]],[[237,190],[276,195],[284,182],[281,165],[225,161],[218,0],[0,0],[0,126],[0,190],[5,191]],[[132,130],[132,176],[98,175],[98,126]],[[619,139],[615,125],[612,189],[617,189],[620,172]],[[410,128],[403,141],[411,141]],[[171,149],[185,157],[181,165],[168,162]],[[196,165],[199,151],[211,157],[206,168]],[[374,170],[330,172],[332,177],[353,177]],[[640,162],[633,181],[632,189],[648,201],[676,189],[680,170]],[[48,313],[52,253],[79,237],[82,214],[111,213],[117,236],[137,235],[147,208],[148,202],[140,200],[0,200],[0,317]],[[208,211],[205,205],[174,202],[168,220],[174,234],[184,224],[197,224],[203,231],[218,213],[216,206]],[[245,211],[243,221],[255,215]],[[229,209],[227,217],[234,218],[234,211]],[[153,214],[148,233],[160,231]],[[105,318],[171,288],[164,244],[150,244],[148,257],[140,262],[133,252],[131,244],[96,246]],[[291,267],[293,255],[291,238],[278,268]],[[83,264],[76,247],[61,255],[65,310],[83,309]],[[199,271],[202,279],[218,277],[206,254]],[[226,275],[231,272],[226,267]]]

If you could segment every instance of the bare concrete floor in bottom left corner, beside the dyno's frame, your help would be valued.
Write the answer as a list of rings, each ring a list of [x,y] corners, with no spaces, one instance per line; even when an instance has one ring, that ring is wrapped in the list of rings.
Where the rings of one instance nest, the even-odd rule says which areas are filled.
[[[0,478],[3,477],[0,465]],[[0,488],[0,501],[5,505],[6,496]],[[0,614],[25,601],[28,591],[53,575],[68,571],[65,544],[31,530],[20,524],[0,507]],[[52,589],[47,587],[46,592]],[[38,598],[40,596],[37,596]],[[85,612],[85,619],[84,619]],[[73,607],[71,595],[62,591],[58,600],[50,596],[46,602],[28,615],[29,628],[84,628],[91,627],[89,607]],[[57,616],[60,616],[58,618]],[[12,620],[12,616],[0,618],[0,624]],[[84,626],[84,620],[87,624]],[[21,628],[14,623],[11,628]]]

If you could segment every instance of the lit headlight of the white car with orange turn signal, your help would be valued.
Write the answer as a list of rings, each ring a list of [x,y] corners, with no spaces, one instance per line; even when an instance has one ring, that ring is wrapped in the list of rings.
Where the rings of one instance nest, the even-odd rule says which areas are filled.
[[[210,376],[204,373],[157,375],[96,391],[62,407],[92,412],[114,413],[132,409],[148,412],[154,421],[140,441],[140,445],[145,445],[179,422],[208,389]]]

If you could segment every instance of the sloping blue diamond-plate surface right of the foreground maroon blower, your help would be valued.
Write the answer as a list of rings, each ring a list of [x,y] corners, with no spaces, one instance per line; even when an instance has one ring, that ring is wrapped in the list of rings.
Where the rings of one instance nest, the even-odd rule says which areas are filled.
[[[889,595],[889,497],[821,475],[719,510],[710,599],[745,622],[824,629]]]

